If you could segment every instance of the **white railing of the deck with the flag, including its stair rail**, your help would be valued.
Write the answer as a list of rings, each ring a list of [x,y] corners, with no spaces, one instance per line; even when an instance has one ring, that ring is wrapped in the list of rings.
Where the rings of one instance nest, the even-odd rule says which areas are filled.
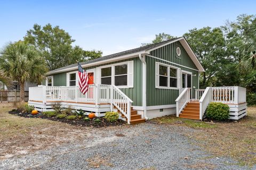
[[[132,100],[114,85],[89,85],[85,95],[78,86],[55,87],[38,86],[29,88],[29,100],[46,102],[74,102],[87,104],[110,104],[114,106],[131,121]]]

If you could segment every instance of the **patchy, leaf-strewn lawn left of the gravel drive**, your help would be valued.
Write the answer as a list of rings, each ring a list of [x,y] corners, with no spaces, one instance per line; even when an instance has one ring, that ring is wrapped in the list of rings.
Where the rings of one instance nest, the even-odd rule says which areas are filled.
[[[12,109],[10,104],[0,105],[0,160],[76,142],[85,132],[81,127],[66,123],[14,116],[8,113]]]

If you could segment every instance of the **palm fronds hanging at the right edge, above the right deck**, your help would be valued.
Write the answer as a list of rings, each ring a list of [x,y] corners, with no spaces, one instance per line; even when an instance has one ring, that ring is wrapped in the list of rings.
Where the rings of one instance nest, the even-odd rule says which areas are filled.
[[[251,30],[251,33],[245,39],[244,57],[239,63],[244,72],[256,70],[256,24],[253,25]]]

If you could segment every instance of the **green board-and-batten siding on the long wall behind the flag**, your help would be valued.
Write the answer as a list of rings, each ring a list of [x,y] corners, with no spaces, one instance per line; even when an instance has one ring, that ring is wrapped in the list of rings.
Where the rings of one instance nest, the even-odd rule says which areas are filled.
[[[142,106],[142,63],[139,57],[85,67],[84,69],[90,70],[90,69],[95,69],[96,67],[100,67],[104,65],[111,65],[111,64],[122,63],[127,61],[133,61],[133,88],[122,88],[120,90],[123,91],[124,94],[127,95],[131,100],[133,100],[133,103],[132,103],[133,106]],[[73,72],[73,71],[76,71],[76,70],[72,70],[69,72]],[[67,73],[68,72],[53,74],[53,86],[67,86]],[[94,76],[96,75],[97,73]]]

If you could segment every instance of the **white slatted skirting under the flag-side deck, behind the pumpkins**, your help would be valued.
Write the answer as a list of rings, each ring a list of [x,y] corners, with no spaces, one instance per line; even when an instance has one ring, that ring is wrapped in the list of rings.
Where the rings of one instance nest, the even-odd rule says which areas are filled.
[[[60,104],[62,108],[71,108],[74,111],[79,111],[82,109],[86,115],[90,114],[91,112],[95,113],[97,117],[105,116],[106,112],[110,112],[110,105],[93,105],[93,104],[80,104],[80,103],[51,103],[47,102],[46,104],[37,101],[28,101],[29,105],[33,105],[37,111],[46,112],[46,111],[53,111],[53,106]]]

